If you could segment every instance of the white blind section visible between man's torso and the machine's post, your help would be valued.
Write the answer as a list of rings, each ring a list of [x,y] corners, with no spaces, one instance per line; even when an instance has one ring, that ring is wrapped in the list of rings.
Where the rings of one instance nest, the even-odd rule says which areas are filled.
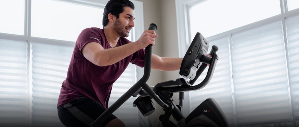
[[[123,74],[113,84],[109,99],[111,106],[118,98],[129,90],[136,83],[136,65],[129,64]],[[120,106],[113,114],[118,117],[126,126],[138,126],[138,110],[133,107],[136,98],[130,97],[123,105]]]

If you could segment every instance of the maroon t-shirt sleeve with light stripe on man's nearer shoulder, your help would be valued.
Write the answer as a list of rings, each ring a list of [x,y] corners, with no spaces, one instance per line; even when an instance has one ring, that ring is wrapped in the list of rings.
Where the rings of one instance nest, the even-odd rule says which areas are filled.
[[[92,28],[86,28],[84,30],[82,30],[82,32],[79,34],[78,39],[77,39],[77,46],[80,50],[80,53],[82,54],[82,48],[89,42],[97,42],[100,45],[102,45],[101,41],[100,41],[100,36],[97,33],[96,30],[92,29]],[[103,45],[102,45],[103,46]]]

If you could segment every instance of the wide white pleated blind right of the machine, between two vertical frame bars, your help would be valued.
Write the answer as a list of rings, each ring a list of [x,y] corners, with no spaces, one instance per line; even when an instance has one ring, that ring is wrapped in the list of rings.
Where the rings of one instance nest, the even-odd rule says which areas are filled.
[[[237,126],[292,120],[281,21],[232,35]]]

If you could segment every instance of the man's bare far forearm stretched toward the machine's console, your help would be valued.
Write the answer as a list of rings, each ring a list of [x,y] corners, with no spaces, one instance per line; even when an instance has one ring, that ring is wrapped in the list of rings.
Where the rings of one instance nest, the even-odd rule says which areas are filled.
[[[175,71],[181,68],[183,58],[160,57],[152,54],[151,68],[162,71]]]

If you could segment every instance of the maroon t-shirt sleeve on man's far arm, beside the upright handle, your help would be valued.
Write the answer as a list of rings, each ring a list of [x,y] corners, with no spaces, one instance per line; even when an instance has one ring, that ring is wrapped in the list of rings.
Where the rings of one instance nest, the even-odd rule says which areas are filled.
[[[133,53],[131,63],[143,68],[144,67],[144,59],[145,59],[145,49],[139,49],[138,51]]]

